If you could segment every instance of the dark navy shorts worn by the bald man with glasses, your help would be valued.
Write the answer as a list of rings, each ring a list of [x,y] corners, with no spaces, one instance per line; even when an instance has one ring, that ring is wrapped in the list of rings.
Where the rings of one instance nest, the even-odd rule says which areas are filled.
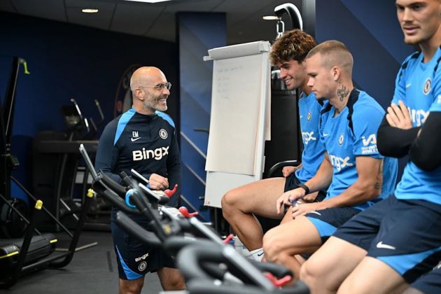
[[[162,267],[175,267],[170,255],[160,248],[142,243],[121,229],[115,222],[117,212],[118,209],[112,210],[111,229],[120,279],[136,280]],[[130,218],[141,227],[148,228],[146,218],[137,215],[130,215]]]

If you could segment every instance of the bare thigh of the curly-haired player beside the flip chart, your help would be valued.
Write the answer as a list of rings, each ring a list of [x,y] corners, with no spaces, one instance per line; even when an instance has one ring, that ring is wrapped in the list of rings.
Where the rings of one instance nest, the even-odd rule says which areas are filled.
[[[283,194],[285,178],[270,178],[248,183],[224,195],[222,203],[246,214],[274,218],[276,200]],[[280,216],[278,216],[280,217]]]

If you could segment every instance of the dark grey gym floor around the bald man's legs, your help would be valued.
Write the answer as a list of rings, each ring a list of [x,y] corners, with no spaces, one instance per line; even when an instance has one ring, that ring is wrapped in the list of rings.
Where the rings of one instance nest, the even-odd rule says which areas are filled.
[[[66,247],[66,237],[57,235],[58,248]],[[77,251],[62,269],[44,269],[22,276],[18,283],[0,293],[118,293],[118,267],[110,232],[82,232],[78,246],[98,242],[97,246]],[[157,274],[147,274],[142,293],[162,290]]]

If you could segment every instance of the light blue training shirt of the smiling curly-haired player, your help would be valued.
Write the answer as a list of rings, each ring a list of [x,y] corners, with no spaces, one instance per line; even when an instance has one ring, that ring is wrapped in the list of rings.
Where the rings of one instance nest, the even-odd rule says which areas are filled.
[[[325,156],[325,144],[320,140],[319,121],[321,104],[316,95],[304,93],[299,99],[300,130],[302,131],[303,151],[302,168],[295,171],[300,182],[306,183],[320,167]]]

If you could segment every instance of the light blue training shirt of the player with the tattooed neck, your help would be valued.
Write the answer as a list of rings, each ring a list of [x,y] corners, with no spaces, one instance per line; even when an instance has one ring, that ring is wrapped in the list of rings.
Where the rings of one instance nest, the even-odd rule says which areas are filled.
[[[326,199],[340,195],[358,179],[357,156],[384,158],[383,186],[379,197],[353,207],[366,209],[393,192],[398,160],[383,157],[377,150],[377,130],[383,116],[384,109],[366,92],[356,89],[352,90],[338,116],[335,116],[335,108],[329,102],[323,106],[321,139],[325,142],[333,170]]]

